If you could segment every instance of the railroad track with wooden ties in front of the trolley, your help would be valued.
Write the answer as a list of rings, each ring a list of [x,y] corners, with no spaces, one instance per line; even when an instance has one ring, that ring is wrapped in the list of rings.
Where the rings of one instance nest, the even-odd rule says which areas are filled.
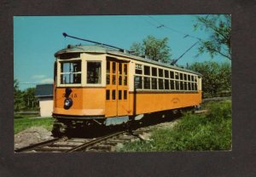
[[[99,138],[55,138],[32,146],[26,146],[15,152],[70,152],[70,151],[111,151],[113,146],[135,139],[137,134],[120,131]]]

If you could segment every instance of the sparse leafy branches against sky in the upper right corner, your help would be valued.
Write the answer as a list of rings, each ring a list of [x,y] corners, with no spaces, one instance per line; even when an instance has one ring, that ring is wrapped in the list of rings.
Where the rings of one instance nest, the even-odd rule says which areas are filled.
[[[210,32],[211,36],[207,40],[200,40],[199,54],[207,52],[213,58],[220,54],[231,60],[231,16],[230,14],[212,14],[207,16],[197,16],[194,27],[197,30]]]

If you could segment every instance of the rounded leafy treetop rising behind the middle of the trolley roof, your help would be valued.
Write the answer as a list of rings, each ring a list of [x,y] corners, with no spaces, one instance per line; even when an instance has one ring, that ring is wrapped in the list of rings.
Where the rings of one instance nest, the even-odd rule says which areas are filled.
[[[146,56],[150,60],[161,60],[167,62],[171,57],[171,49],[167,45],[168,38],[158,39],[148,36],[143,43],[132,43],[131,51],[139,56]]]

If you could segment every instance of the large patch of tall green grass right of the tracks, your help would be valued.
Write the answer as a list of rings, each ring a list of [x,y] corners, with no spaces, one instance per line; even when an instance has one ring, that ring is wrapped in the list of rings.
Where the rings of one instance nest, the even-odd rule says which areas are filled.
[[[221,151],[232,143],[231,102],[207,103],[206,115],[186,113],[174,128],[156,129],[149,141],[125,143],[118,151]]]

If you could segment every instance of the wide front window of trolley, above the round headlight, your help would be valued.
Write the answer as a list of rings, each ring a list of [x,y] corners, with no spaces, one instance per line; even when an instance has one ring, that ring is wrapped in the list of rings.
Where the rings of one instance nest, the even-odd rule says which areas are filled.
[[[81,61],[61,62],[61,84],[81,83]]]

